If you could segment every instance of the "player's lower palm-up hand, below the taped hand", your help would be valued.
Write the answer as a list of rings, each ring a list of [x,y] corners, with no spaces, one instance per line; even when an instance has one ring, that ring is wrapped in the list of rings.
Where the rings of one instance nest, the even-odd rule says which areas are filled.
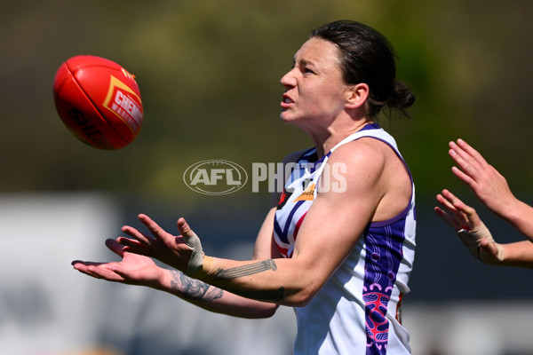
[[[122,261],[95,263],[75,260],[72,265],[77,271],[97,279],[157,288],[163,278],[163,270],[155,265],[152,259],[128,253],[112,239],[107,240],[106,245],[116,255],[121,256]]]

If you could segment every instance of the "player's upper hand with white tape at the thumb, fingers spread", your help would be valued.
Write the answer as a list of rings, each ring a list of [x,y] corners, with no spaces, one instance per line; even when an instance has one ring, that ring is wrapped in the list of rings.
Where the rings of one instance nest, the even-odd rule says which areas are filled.
[[[139,215],[139,220],[143,225],[147,226],[151,235],[141,233],[129,225],[123,226],[123,233],[133,238],[119,237],[116,239],[118,243],[125,247],[124,250],[143,256],[155,257],[164,264],[186,272],[189,261],[193,260],[192,256],[197,254],[194,251],[195,249],[198,251],[196,244],[200,245],[200,240],[187,225],[185,219],[179,218],[178,220],[177,225],[181,233],[179,236],[165,232],[162,227],[146,215]],[[199,252],[203,256],[201,245]]]

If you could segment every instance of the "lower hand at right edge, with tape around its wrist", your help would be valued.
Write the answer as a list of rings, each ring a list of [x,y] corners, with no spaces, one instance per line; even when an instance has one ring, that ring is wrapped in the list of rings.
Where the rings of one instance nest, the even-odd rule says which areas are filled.
[[[475,209],[465,205],[448,190],[442,190],[442,194],[437,195],[437,201],[443,209],[435,207],[435,212],[457,232],[474,257],[487,264],[499,264],[504,260],[504,248],[494,241]]]

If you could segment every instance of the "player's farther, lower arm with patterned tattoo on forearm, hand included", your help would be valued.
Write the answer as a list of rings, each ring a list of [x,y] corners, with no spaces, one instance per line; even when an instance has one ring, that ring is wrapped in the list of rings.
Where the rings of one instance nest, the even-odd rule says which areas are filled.
[[[299,152],[290,154],[283,162],[295,162],[300,154]],[[270,210],[259,230],[251,260],[279,256],[279,252],[273,245],[274,214],[279,198],[280,193],[272,193]],[[145,241],[149,248],[142,248],[141,252],[133,254],[127,251],[127,245],[130,245],[131,248],[139,248],[142,246],[141,243],[135,243],[132,240],[119,237],[117,241],[123,241],[123,244],[126,245],[124,247],[117,241],[107,240],[107,247],[122,257],[121,262],[94,263],[75,261],[72,263],[75,269],[98,279],[163,290],[211,312],[243,318],[263,318],[274,314],[277,304],[263,303],[237,296],[202,280],[191,278],[179,270],[167,270],[156,266],[149,256],[171,263],[173,257],[178,256],[179,259],[180,252],[187,256],[190,255],[191,250],[189,248],[181,248],[180,251],[177,251],[179,249],[177,247],[184,246],[184,242],[180,237],[173,237],[169,233],[165,233],[163,229],[146,216],[139,215],[139,219],[148,226],[151,233],[163,233],[164,237],[167,237],[166,244],[157,244],[157,240],[149,235],[139,233],[135,228],[124,226],[124,233],[135,235],[137,239]],[[176,247],[176,249],[172,249],[172,247]],[[178,267],[179,264],[177,264]]]

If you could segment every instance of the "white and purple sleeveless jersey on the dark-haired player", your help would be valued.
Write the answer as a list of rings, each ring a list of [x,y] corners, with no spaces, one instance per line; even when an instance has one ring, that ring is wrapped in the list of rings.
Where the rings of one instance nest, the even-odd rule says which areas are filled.
[[[292,256],[298,229],[317,195],[318,180],[330,154],[355,139],[370,137],[390,146],[406,163],[394,138],[367,124],[317,160],[309,149],[287,179],[274,218],[274,241]],[[325,174],[324,174],[325,175]],[[402,296],[415,256],[415,187],[410,204],[398,216],[371,223],[343,264],[304,307],[295,307],[298,334],[295,355],[410,354],[409,334],[401,324]]]

